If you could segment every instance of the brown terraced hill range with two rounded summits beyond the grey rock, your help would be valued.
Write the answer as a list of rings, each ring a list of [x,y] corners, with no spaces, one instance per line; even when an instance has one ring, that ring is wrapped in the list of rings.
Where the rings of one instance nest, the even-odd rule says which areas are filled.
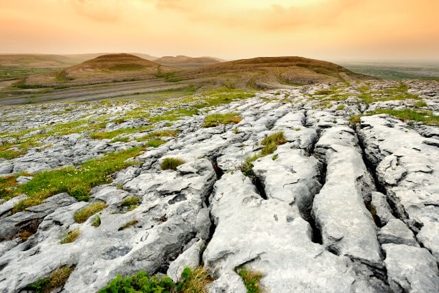
[[[178,69],[132,54],[108,54],[66,69],[9,81],[4,86],[5,82],[0,82],[0,104],[156,99],[224,87],[288,89],[303,84],[373,79],[331,62],[302,57],[259,57]]]

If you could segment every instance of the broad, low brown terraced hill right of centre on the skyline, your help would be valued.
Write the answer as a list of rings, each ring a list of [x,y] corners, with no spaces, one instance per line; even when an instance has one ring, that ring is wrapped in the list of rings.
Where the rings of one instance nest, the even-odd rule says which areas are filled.
[[[272,89],[316,82],[373,80],[334,63],[303,57],[258,57],[180,71],[175,79],[195,84]]]

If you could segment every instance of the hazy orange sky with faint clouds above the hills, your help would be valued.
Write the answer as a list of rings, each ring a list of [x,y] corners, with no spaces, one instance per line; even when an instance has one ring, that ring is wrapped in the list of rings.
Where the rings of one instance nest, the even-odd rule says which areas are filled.
[[[439,58],[439,0],[0,0],[0,53]]]

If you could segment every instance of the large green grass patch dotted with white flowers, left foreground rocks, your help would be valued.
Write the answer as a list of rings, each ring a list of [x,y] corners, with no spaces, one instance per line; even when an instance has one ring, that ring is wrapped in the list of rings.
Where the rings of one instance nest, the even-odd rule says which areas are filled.
[[[27,194],[27,199],[17,203],[12,213],[41,204],[49,196],[62,192],[67,192],[78,200],[89,200],[92,187],[110,183],[108,175],[136,164],[137,162],[126,162],[126,159],[137,156],[141,150],[143,148],[131,148],[108,154],[102,159],[86,161],[78,168],[65,167],[38,173],[32,180],[11,192],[11,196]]]

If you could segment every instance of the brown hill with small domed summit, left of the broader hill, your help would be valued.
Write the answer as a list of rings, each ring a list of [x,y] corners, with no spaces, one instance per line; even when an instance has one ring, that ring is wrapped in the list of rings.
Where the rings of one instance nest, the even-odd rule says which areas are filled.
[[[25,84],[88,84],[95,82],[110,82],[113,80],[136,80],[155,78],[157,73],[174,71],[156,62],[146,60],[132,54],[107,54],[87,60],[67,69],[30,75],[25,78]]]

